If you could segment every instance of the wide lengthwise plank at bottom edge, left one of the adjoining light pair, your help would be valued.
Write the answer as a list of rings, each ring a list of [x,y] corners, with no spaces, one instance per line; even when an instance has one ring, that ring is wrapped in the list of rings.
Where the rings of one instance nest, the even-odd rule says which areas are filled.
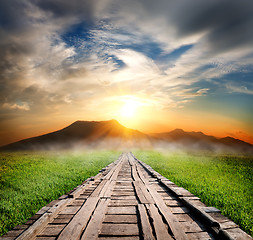
[[[76,240],[81,237],[83,230],[85,229],[90,216],[99,201],[98,197],[90,197],[85,204],[79,210],[79,212],[73,217],[70,223],[63,229],[58,240]]]

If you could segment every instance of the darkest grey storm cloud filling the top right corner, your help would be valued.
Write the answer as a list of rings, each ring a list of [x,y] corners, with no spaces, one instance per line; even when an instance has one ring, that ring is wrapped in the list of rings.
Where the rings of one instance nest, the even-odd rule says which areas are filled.
[[[178,36],[208,31],[207,45],[224,51],[253,44],[253,1],[187,1],[173,24]]]

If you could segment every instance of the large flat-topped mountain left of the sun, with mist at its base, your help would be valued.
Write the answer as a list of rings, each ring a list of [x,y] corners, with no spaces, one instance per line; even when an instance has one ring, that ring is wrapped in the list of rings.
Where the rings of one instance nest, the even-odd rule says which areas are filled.
[[[147,144],[149,136],[129,129],[116,120],[76,121],[66,128],[38,137],[24,139],[1,147],[1,150],[50,150],[80,147],[132,147],[139,142]]]

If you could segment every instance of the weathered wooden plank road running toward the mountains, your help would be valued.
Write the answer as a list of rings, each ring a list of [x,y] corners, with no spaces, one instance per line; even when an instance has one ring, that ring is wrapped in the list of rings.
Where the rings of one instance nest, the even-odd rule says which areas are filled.
[[[132,153],[43,207],[0,239],[252,239]]]

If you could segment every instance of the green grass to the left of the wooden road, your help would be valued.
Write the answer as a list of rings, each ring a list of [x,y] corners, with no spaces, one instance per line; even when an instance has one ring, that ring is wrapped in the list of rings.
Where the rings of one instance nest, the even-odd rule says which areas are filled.
[[[0,236],[118,156],[113,151],[0,153]]]

